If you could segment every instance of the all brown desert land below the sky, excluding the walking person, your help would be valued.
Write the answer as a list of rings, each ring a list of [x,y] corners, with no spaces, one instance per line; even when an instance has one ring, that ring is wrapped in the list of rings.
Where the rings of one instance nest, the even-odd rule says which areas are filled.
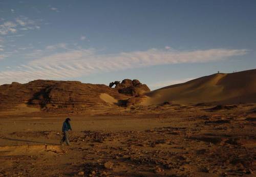
[[[253,176],[255,81],[248,70],[155,91],[136,79],[0,85],[1,174]],[[71,146],[61,146],[67,117]]]

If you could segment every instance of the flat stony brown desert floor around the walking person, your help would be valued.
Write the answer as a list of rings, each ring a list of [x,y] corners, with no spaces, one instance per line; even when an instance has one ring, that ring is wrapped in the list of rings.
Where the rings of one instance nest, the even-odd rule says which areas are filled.
[[[0,176],[255,176],[255,125],[256,104],[0,113]]]

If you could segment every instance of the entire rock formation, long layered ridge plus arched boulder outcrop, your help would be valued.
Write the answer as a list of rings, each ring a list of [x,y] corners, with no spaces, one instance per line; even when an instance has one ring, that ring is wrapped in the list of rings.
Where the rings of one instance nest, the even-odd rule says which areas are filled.
[[[111,87],[115,84],[115,88]],[[0,111],[25,105],[42,110],[84,110],[111,105],[126,105],[129,98],[143,95],[150,89],[138,80],[124,79],[104,84],[79,81],[34,80],[25,84],[0,85]],[[103,97],[105,99],[102,99]],[[110,100],[111,101],[108,101]],[[113,101],[114,100],[114,101]]]

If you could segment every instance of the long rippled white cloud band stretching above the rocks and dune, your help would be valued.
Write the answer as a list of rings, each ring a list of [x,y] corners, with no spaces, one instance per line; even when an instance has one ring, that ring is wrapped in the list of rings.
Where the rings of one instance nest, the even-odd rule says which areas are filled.
[[[47,49],[46,49],[47,50]],[[45,51],[38,51],[44,54]],[[159,50],[117,54],[99,54],[95,49],[70,50],[36,57],[26,65],[0,72],[0,82],[27,82],[35,79],[69,79],[92,73],[111,72],[151,65],[219,61],[245,55],[245,49],[209,49],[194,51]]]

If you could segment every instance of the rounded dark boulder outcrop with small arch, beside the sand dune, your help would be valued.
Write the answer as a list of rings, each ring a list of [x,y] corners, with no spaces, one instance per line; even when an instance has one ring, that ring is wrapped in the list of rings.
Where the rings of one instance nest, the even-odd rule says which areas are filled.
[[[134,79],[124,79],[121,83],[119,81],[111,82],[110,86],[115,86],[120,94],[125,94],[127,96],[140,96],[146,92],[150,92],[150,89],[146,84],[142,84],[139,80]]]

